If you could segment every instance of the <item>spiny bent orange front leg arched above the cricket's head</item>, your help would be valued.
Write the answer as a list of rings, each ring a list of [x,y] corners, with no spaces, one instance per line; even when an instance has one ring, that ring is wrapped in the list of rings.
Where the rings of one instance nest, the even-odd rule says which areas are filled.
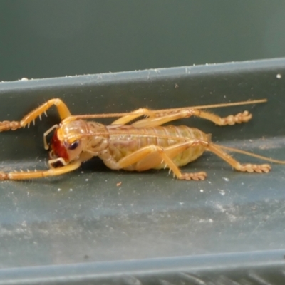
[[[58,114],[61,117],[61,120],[69,117],[71,115],[70,111],[68,110],[67,106],[61,99],[51,99],[48,100],[46,103],[43,103],[38,108],[32,110],[28,115],[25,115],[24,118],[20,121],[8,121],[4,120],[0,122],[0,132],[4,130],[16,130],[19,128],[24,128],[26,125],[30,125],[31,122],[34,123],[36,118],[40,117],[41,114],[46,113],[46,110],[51,108],[51,106],[55,105],[58,109]]]

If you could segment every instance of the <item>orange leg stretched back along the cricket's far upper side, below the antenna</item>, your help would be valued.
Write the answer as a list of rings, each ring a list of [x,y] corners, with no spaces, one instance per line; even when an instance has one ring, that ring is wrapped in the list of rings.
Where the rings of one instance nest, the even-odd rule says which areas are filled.
[[[140,117],[141,115],[147,115],[148,118],[143,118],[133,123],[132,125],[135,128],[150,128],[156,127],[158,125],[163,125],[165,123],[171,122],[172,120],[179,120],[182,118],[190,118],[192,115],[195,115],[199,118],[204,118],[207,120],[211,120],[213,123],[217,125],[234,125],[236,123],[246,123],[252,118],[252,114],[248,111],[244,111],[243,113],[238,113],[237,115],[228,115],[227,117],[219,117],[213,113],[209,113],[204,110],[199,110],[195,108],[182,108],[181,110],[170,110],[169,113],[164,111],[160,113],[159,111],[152,111],[148,109],[138,109],[131,113],[130,115],[126,115],[118,120],[115,120],[112,125],[115,124],[126,124],[130,123],[130,121],[135,120],[135,118]]]

